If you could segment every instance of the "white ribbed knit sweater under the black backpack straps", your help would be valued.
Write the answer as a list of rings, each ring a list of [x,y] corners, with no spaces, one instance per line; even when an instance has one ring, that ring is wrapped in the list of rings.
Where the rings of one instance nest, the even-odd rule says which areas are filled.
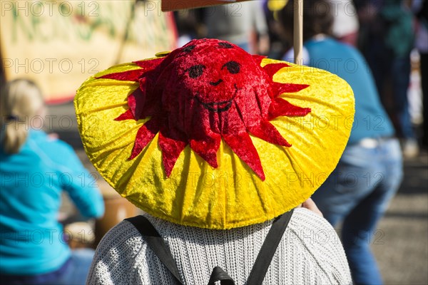
[[[245,284],[272,220],[230,230],[184,227],[146,216],[170,247],[185,284],[208,284],[220,266]],[[96,249],[88,284],[174,284],[158,257],[130,222],[116,225]],[[297,208],[263,284],[352,284],[345,252],[322,217]]]

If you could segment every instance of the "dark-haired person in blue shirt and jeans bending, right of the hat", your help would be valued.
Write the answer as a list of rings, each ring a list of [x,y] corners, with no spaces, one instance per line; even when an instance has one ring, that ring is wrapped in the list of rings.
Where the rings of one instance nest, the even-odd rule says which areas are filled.
[[[382,284],[370,241],[402,180],[399,141],[365,59],[354,47],[330,36],[334,7],[326,0],[303,3],[303,63],[337,74],[355,95],[350,140],[336,169],[312,199],[333,226],[343,222],[342,242],[355,284]],[[288,36],[292,36],[292,12],[289,1],[281,13]]]

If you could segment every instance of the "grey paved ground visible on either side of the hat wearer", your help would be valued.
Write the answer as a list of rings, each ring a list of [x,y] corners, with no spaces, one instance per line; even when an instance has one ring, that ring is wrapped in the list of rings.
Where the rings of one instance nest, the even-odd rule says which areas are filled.
[[[83,163],[93,167],[78,136],[73,105],[49,108],[49,131],[70,143]],[[46,125],[46,124],[45,124]],[[428,154],[404,162],[404,181],[368,241],[379,261],[385,284],[428,284]]]

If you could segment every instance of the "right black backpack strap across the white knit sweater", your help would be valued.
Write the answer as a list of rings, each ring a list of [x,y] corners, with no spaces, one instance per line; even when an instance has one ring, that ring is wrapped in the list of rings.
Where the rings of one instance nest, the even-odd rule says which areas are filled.
[[[248,276],[247,285],[262,284],[263,279],[265,279],[267,269],[270,266],[270,262],[275,255],[278,244],[280,244],[282,235],[284,235],[288,222],[290,222],[293,211],[294,209],[282,214],[273,221],[272,227],[270,227],[270,230],[267,233],[265,242],[263,242],[263,246],[260,249],[257,259],[255,259],[250,276]]]

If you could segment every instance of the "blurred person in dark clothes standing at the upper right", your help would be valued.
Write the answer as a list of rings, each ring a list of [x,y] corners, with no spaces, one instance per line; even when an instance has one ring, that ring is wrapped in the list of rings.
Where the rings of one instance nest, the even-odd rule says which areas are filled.
[[[354,0],[360,19],[360,50],[372,69],[382,103],[402,138],[405,157],[419,152],[409,114],[410,52],[414,17],[408,1]]]

